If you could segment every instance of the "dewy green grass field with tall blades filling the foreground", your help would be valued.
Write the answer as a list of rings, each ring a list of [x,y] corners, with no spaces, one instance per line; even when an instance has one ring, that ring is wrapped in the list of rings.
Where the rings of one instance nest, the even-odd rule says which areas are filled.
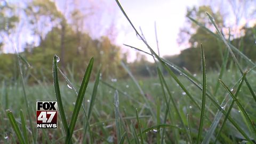
[[[255,64],[218,29],[211,34],[227,46],[222,66],[205,69],[201,47],[202,74],[197,75],[159,58],[134,30],[156,59],[157,76],[135,78],[123,64],[130,78],[103,80],[100,71],[91,74],[97,67],[91,59],[83,80],[64,76],[67,82],[59,82],[63,75],[54,56],[54,84],[38,81],[30,86],[20,76],[14,84],[1,85],[0,143],[255,142]],[[25,61],[19,54],[18,60]],[[90,75],[95,75],[94,81],[89,81]],[[58,129],[36,129],[36,101],[54,100],[59,106]]]

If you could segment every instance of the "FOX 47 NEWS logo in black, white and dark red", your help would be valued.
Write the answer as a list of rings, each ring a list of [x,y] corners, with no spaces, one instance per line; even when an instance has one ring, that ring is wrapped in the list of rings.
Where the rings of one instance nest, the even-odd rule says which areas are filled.
[[[57,128],[57,101],[36,102],[36,127]]]

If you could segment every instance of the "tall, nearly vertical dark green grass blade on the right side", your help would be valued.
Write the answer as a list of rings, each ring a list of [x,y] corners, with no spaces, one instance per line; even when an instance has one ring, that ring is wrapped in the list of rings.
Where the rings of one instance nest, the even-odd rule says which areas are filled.
[[[201,106],[201,114],[200,114],[200,124],[199,130],[197,135],[196,143],[199,143],[201,139],[201,134],[203,131],[203,124],[204,124],[204,113],[205,113],[205,98],[206,98],[206,68],[205,68],[205,57],[204,57],[204,50],[201,44],[201,57],[202,57],[202,73],[203,73],[203,93],[202,93],[202,106]]]

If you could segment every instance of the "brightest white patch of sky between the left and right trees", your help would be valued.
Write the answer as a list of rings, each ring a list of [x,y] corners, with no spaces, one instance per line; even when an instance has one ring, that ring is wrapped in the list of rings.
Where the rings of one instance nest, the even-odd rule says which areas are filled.
[[[185,22],[187,7],[198,5],[197,1],[122,0],[120,3],[128,17],[133,22],[133,25],[137,28],[137,30],[139,30],[139,27],[141,27],[147,42],[157,52],[154,26],[154,22],[156,21],[160,55],[179,54],[180,50],[185,48],[179,47],[177,44],[179,28],[182,27],[183,22]],[[121,13],[121,11],[119,12]],[[145,44],[143,44],[142,41],[135,35],[135,31],[132,30],[124,15],[122,15],[122,13],[120,15],[119,25],[124,25],[129,30],[119,30],[119,34],[116,39],[117,43],[119,45],[122,45],[123,43],[129,44],[148,51]],[[126,47],[124,49],[127,50],[130,48]],[[135,51],[130,49],[129,52],[130,60],[134,60]]]

